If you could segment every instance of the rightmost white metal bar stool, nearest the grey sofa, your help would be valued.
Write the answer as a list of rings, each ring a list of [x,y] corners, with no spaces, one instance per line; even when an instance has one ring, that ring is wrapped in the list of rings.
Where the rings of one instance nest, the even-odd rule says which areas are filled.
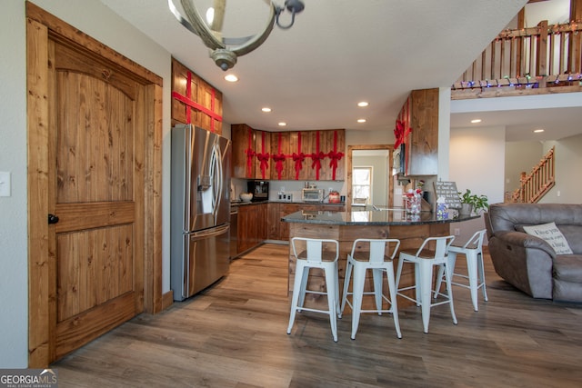
[[[477,306],[477,290],[481,288],[483,292],[483,300],[487,302],[487,286],[485,285],[485,265],[483,264],[483,240],[487,230],[483,229],[477,231],[473,236],[463,245],[451,244],[448,247],[448,265],[453,271],[451,284],[465,287],[471,290],[471,302],[473,302],[473,309],[479,311]],[[455,264],[457,262],[457,254],[465,254],[467,258],[467,274],[455,273]],[[453,280],[455,276],[468,280],[465,284],[455,283]],[[437,290],[440,290],[440,285],[443,281],[443,268],[438,271],[437,276]],[[435,293],[437,297],[437,293]]]

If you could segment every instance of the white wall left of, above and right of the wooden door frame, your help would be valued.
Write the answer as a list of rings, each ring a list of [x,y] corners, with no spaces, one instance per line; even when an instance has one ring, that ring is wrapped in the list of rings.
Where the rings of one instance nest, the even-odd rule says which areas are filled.
[[[169,222],[171,56],[97,0],[34,3],[164,78],[163,223]],[[3,2],[0,13],[0,171],[12,174],[12,195],[0,197],[0,368],[28,363],[26,224],[25,2]],[[104,28],[106,26],[106,28]],[[10,34],[5,34],[10,31]],[[163,228],[163,289],[169,291],[169,228]],[[34,281],[34,280],[33,280]]]

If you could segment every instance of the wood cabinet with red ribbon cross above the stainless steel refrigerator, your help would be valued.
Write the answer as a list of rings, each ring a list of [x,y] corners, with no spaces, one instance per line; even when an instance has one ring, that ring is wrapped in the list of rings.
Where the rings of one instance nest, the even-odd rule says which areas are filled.
[[[222,93],[172,58],[172,125],[222,134]]]

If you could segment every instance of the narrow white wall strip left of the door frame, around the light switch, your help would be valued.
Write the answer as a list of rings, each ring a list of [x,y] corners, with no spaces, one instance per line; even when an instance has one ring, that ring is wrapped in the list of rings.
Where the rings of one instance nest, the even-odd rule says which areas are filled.
[[[23,368],[28,360],[25,3],[3,2],[0,25],[0,171],[12,175],[11,196],[0,197],[0,368]]]

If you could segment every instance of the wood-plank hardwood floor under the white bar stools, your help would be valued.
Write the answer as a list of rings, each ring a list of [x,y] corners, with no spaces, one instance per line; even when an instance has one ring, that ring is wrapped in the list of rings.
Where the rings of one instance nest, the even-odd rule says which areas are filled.
[[[447,305],[392,317],[297,314],[286,334],[286,245],[265,244],[203,293],[142,314],[52,365],[60,387],[574,387],[582,385],[582,305],[536,300],[503,282],[486,257],[487,293],[474,312],[454,287]],[[457,265],[462,266],[462,256]]]

